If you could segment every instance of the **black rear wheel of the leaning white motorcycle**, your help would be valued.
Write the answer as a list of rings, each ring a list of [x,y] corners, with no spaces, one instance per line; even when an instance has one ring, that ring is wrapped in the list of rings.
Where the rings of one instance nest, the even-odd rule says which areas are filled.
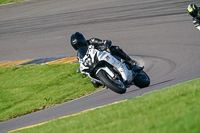
[[[140,71],[136,75],[134,79],[134,83],[135,83],[135,86],[139,88],[148,87],[150,85],[150,78],[144,71]]]

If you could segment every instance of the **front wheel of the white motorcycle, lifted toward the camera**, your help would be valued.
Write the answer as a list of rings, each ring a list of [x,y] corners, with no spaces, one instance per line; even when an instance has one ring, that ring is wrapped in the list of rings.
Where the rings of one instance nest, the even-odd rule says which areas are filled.
[[[100,70],[97,74],[97,77],[101,80],[101,82],[106,85],[112,91],[123,94],[126,92],[126,86],[123,82],[117,79],[112,79],[106,71]]]

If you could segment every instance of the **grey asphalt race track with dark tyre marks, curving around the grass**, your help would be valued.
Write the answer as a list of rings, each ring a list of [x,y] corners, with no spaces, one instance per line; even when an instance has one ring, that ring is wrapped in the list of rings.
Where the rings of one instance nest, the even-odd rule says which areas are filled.
[[[198,1],[193,1],[198,3]],[[0,132],[143,95],[200,76],[200,32],[187,0],[31,0],[0,6],[0,61],[75,56],[79,31],[110,39],[144,62],[151,85],[123,95],[108,89],[0,123]],[[56,89],[56,88],[55,88]]]

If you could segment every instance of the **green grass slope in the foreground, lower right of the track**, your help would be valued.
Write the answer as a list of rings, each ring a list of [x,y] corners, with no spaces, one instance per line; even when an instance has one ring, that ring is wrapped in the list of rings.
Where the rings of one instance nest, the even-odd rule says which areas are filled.
[[[19,130],[20,133],[200,133],[200,79]]]

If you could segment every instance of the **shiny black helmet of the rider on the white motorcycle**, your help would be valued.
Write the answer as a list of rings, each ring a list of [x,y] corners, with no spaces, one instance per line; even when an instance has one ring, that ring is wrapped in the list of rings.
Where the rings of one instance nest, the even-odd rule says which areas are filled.
[[[71,36],[71,45],[75,50],[78,50],[82,46],[86,46],[86,39],[83,34],[76,32]]]

